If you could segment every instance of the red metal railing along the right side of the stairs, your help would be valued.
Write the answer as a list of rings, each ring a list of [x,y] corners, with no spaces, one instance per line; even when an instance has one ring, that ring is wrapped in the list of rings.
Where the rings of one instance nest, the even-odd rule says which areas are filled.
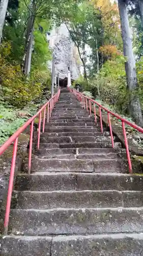
[[[129,146],[128,146],[128,140],[127,140],[127,135],[126,135],[125,124],[133,127],[135,130],[137,130],[140,133],[143,133],[143,129],[141,127],[139,127],[138,125],[136,125],[134,123],[131,123],[130,121],[126,120],[125,118],[123,118],[123,117],[121,117],[121,116],[111,112],[110,110],[106,109],[104,106],[99,104],[97,101],[95,101],[93,99],[90,99],[87,96],[84,96],[82,93],[79,93],[75,89],[70,89],[69,88],[69,90],[81,102],[83,108],[86,109],[87,112],[88,112],[88,110],[90,110],[90,115],[92,115],[92,111],[91,111],[92,107],[91,107],[91,105],[93,103],[93,105],[94,105],[95,123],[97,123],[96,106],[99,108],[101,133],[103,133],[102,111],[101,110],[104,110],[107,113],[112,147],[114,147],[114,141],[113,141],[113,134],[112,134],[112,126],[111,126],[111,121],[110,121],[110,115],[112,115],[113,117],[116,117],[117,119],[120,119],[122,121],[122,129],[123,129],[123,135],[124,135],[124,141],[125,141],[125,147],[126,147],[127,160],[128,160],[128,164],[129,164],[129,172],[132,174],[132,164],[131,164],[131,158],[130,158],[130,152],[129,152]],[[88,106],[88,102],[89,102],[89,106]],[[86,106],[85,106],[85,104],[86,104]]]

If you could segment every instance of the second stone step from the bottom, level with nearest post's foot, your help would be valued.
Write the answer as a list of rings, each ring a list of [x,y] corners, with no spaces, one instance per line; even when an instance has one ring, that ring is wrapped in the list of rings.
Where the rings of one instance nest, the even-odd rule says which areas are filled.
[[[23,236],[142,232],[141,208],[11,209],[10,230]]]

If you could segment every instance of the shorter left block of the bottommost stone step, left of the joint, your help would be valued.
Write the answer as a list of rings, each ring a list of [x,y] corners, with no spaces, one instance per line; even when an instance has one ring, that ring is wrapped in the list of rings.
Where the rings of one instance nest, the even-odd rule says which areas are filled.
[[[51,237],[5,236],[1,256],[51,256]]]

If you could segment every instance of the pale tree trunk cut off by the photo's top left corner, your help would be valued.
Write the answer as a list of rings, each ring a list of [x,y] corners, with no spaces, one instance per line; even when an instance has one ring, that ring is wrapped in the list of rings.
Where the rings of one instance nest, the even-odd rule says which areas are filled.
[[[0,44],[3,36],[3,28],[4,28],[8,3],[9,3],[9,0],[0,1]]]

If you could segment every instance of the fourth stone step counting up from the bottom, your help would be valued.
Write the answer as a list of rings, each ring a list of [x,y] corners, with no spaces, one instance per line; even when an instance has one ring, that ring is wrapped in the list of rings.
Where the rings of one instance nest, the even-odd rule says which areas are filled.
[[[38,173],[19,174],[16,190],[54,191],[54,190],[135,190],[143,187],[142,175],[117,173]]]

